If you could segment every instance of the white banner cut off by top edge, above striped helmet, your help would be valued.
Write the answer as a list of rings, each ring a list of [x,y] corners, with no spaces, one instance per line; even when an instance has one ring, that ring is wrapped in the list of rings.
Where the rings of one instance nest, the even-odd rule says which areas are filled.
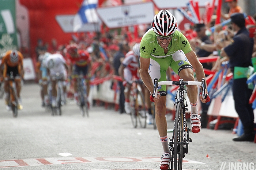
[[[155,5],[157,5],[160,9],[169,9],[169,8],[178,8],[178,7],[187,7],[188,0],[178,0],[178,1],[171,1],[171,0],[153,0]],[[209,2],[209,0],[197,0],[199,7],[205,7],[205,4]],[[217,5],[217,1],[215,5]]]

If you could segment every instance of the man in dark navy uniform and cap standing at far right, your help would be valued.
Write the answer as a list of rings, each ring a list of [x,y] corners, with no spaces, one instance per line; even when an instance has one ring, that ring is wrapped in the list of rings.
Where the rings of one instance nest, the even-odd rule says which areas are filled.
[[[231,43],[221,49],[221,56],[224,57],[220,60],[219,64],[229,60],[230,70],[234,73],[236,67],[252,66],[253,39],[249,37],[242,13],[233,13],[230,18],[232,28],[237,33],[231,40]],[[253,141],[255,136],[253,133],[253,108],[252,104],[249,104],[252,90],[248,88],[246,80],[246,77],[234,79],[232,84],[235,108],[244,126],[244,134],[233,138],[233,141]]]

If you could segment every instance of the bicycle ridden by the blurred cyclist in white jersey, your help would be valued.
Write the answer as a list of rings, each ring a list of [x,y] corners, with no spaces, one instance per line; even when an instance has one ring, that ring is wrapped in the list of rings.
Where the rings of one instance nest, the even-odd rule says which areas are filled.
[[[65,103],[65,95],[63,90],[63,76],[57,73],[56,76],[52,77],[52,80],[56,80],[57,85],[56,107],[53,107],[51,105],[52,116],[62,115],[61,106],[63,106]],[[49,96],[51,96],[50,98],[52,99],[51,92]],[[52,100],[50,100],[50,103],[52,103]]]

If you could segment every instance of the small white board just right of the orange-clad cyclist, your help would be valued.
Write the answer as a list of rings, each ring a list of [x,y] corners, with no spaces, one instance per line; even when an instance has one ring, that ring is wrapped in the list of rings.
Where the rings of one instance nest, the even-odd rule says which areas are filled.
[[[23,59],[24,80],[35,79],[35,70],[31,58]]]

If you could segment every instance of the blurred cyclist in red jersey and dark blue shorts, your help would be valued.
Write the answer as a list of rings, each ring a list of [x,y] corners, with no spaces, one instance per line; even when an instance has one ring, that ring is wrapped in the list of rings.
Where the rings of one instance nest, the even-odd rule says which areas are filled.
[[[75,102],[78,103],[78,92],[77,92],[77,81],[79,75],[87,76],[90,78],[91,72],[91,57],[90,54],[86,50],[79,50],[78,45],[69,44],[66,47],[66,56],[70,62],[69,70],[72,70],[71,78],[74,81],[74,99]],[[70,75],[70,74],[69,74]],[[89,79],[86,81],[87,86],[87,94],[90,92],[90,82]]]

